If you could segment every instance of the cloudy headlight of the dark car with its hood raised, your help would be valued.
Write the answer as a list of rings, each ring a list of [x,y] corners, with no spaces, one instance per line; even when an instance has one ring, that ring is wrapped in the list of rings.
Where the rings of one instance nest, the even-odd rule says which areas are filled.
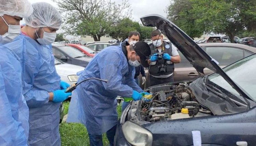
[[[122,131],[127,142],[134,146],[151,146],[153,143],[152,133],[133,122],[125,122]]]

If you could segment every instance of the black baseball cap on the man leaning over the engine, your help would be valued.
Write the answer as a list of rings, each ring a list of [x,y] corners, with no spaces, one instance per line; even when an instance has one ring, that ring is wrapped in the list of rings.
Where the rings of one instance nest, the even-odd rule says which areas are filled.
[[[147,68],[147,60],[151,54],[150,46],[146,42],[139,41],[133,44],[133,49],[135,50],[136,54],[140,56],[141,65]]]

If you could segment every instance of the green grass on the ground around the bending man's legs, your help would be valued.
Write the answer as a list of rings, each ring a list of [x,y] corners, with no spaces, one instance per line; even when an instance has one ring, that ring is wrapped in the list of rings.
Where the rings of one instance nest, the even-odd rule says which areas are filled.
[[[68,114],[69,102],[64,102],[64,114]],[[121,106],[117,106],[118,118],[121,115]],[[66,123],[60,124],[60,137],[62,146],[89,146],[89,136],[84,125],[80,123]],[[108,146],[109,141],[106,134],[103,134],[103,145]]]

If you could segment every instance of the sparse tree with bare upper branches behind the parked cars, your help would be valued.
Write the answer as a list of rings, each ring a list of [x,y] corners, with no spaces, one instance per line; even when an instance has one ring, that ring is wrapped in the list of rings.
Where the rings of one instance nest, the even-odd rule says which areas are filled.
[[[53,0],[63,14],[65,29],[69,34],[91,35],[94,41],[108,34],[110,28],[123,17],[130,17],[130,4],[123,0]]]

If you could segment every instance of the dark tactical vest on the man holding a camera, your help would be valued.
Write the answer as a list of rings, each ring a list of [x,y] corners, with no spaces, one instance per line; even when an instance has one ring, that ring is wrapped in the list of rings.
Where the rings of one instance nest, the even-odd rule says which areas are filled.
[[[151,49],[151,55],[153,55],[154,53],[159,53],[158,49],[155,48],[155,46],[153,44],[150,44],[150,49]],[[162,44],[162,52],[168,53],[170,56],[172,56],[172,44],[163,41]],[[173,73],[174,71],[174,64],[171,61],[166,61],[166,65],[167,65],[167,70],[164,74],[161,74],[159,72],[159,62],[157,61],[153,61],[151,62],[151,66],[150,66],[150,70],[149,73],[153,76],[160,76],[160,75],[169,75],[171,73]]]

